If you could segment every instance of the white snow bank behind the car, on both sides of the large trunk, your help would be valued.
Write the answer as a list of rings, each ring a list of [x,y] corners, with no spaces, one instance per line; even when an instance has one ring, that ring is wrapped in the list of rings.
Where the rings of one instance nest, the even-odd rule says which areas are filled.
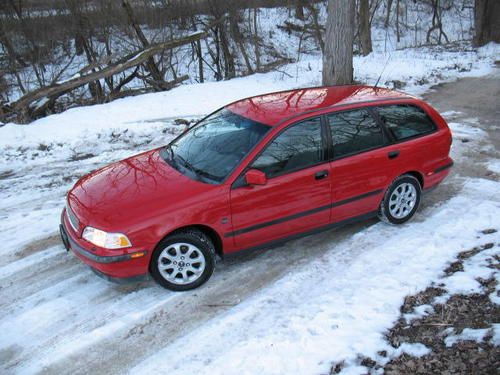
[[[354,59],[355,79],[393,88],[394,81],[406,84],[404,91],[419,94],[430,85],[457,77],[483,76],[493,69],[500,45],[491,43],[477,52],[448,52],[439,47],[375,51]],[[222,82],[182,85],[174,90],[78,107],[33,122],[30,126],[0,127],[0,147],[38,146],[40,143],[74,143],[80,137],[95,138],[101,132],[129,129],[154,132],[172,119],[208,114],[223,105],[248,96],[321,84],[321,58],[305,56],[280,71],[254,74]],[[35,126],[37,130],[31,129]],[[97,133],[97,134],[96,134]],[[1,155],[0,155],[1,157]],[[1,159],[0,159],[1,160]]]

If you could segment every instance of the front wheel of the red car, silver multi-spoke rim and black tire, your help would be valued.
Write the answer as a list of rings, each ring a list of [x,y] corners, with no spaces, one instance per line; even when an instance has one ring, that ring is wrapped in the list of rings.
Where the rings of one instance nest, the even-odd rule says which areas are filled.
[[[151,257],[149,271],[155,281],[176,292],[207,282],[215,269],[215,247],[203,232],[192,229],[163,239]]]

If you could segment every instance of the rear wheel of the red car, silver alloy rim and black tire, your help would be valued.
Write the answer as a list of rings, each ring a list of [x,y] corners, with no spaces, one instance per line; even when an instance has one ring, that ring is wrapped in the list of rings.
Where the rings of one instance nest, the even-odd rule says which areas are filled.
[[[416,177],[399,176],[385,192],[378,217],[389,224],[406,223],[417,211],[421,195],[422,187]]]

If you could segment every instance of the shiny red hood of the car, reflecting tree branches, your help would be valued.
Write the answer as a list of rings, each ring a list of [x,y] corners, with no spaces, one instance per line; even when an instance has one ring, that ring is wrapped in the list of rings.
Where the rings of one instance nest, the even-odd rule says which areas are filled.
[[[82,177],[68,193],[68,202],[83,224],[118,230],[173,212],[216,186],[184,176],[156,149]]]

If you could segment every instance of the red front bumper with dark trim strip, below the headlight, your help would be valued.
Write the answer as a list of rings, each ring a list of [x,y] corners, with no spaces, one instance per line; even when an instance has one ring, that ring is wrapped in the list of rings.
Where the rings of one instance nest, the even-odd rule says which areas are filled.
[[[148,275],[149,256],[146,250],[139,252],[132,250],[117,255],[97,254],[96,251],[85,248],[81,243],[83,240],[76,238],[76,235],[68,230],[65,210],[61,215],[59,232],[66,250],[72,250],[80,260],[89,265],[101,277],[113,281],[116,281],[115,279],[137,281],[136,279],[144,279]],[[143,255],[137,257],[139,253],[143,253]]]

